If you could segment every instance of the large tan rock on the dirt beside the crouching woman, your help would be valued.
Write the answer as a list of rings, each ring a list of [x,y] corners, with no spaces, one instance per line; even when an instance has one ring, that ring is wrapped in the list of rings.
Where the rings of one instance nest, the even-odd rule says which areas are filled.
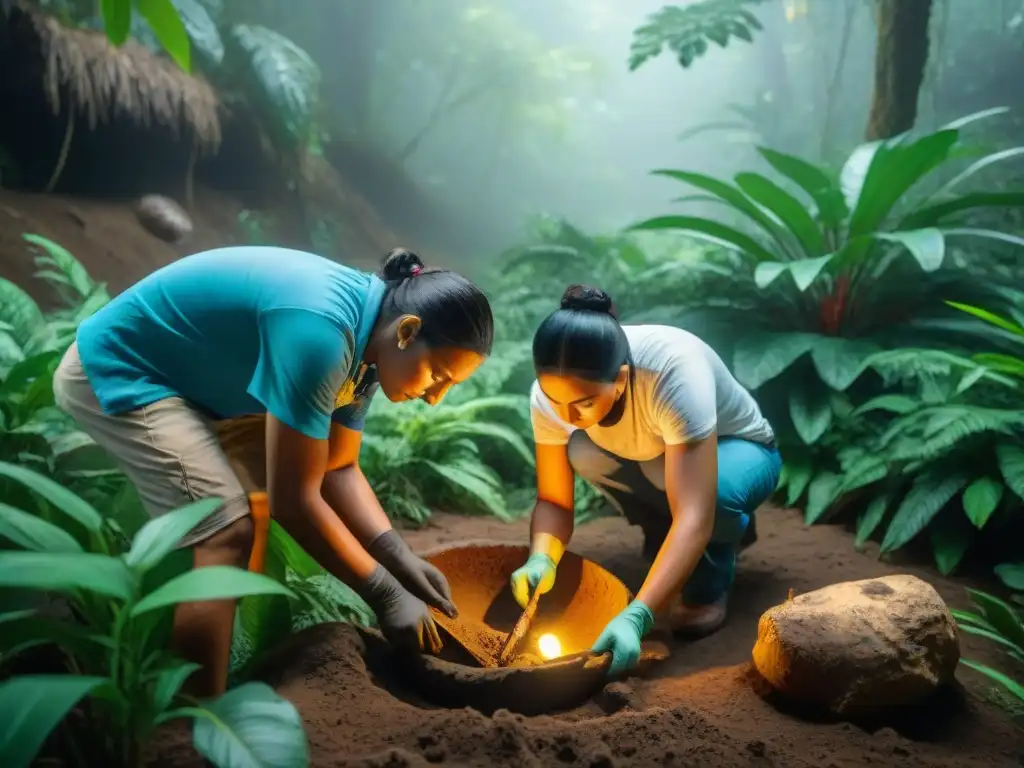
[[[754,665],[780,693],[837,715],[920,702],[953,679],[959,634],[931,585],[912,575],[847,582],[770,608]]]

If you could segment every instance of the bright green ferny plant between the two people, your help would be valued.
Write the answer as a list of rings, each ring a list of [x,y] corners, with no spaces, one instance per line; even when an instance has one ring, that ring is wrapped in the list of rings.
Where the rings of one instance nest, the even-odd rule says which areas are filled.
[[[502,414],[526,418],[526,397],[371,407],[359,467],[389,516],[422,523],[440,507],[511,519],[503,475],[520,479],[534,456],[522,430],[496,418]]]

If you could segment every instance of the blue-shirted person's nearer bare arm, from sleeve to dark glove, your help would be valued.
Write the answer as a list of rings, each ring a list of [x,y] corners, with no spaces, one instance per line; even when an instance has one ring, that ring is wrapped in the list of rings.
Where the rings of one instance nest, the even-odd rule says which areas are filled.
[[[267,493],[278,521],[332,575],[364,584],[378,563],[324,499],[328,441],[266,418]]]

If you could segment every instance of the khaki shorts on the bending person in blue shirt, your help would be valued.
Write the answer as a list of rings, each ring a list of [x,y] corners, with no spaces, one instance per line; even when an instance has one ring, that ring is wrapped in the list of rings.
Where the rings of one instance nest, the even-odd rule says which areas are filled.
[[[205,541],[249,514],[249,494],[266,487],[265,417],[213,422],[180,397],[103,413],[72,344],[53,377],[57,406],[106,450],[138,489],[151,517],[201,499],[224,504],[184,539]]]

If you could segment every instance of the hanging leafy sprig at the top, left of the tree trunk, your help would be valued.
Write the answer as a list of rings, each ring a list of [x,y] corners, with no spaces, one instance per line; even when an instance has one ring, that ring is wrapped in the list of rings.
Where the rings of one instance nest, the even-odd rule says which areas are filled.
[[[763,28],[750,8],[763,2],[701,0],[684,7],[665,6],[633,32],[630,72],[660,55],[665,48],[675,54],[681,67],[688,68],[708,52],[709,42],[722,48],[733,38],[753,42],[755,33]]]

